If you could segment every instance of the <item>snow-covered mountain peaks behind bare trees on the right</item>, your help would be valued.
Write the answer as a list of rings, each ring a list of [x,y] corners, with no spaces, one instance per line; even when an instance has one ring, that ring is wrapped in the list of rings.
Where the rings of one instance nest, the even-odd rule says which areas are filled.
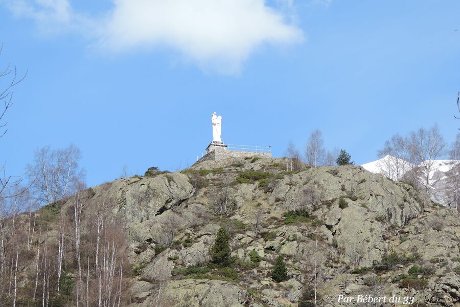
[[[429,161],[424,161],[419,165],[413,165],[408,161],[397,159],[392,156],[385,156],[379,160],[362,164],[361,166],[373,173],[383,174],[384,176],[393,180],[402,180],[410,171],[418,173],[421,182],[423,179],[423,165],[427,165]],[[449,205],[451,202],[450,191],[454,186],[452,180],[454,174],[454,166],[459,165],[459,160],[433,160],[431,161],[431,171],[429,173],[429,185],[431,189],[431,200]]]

